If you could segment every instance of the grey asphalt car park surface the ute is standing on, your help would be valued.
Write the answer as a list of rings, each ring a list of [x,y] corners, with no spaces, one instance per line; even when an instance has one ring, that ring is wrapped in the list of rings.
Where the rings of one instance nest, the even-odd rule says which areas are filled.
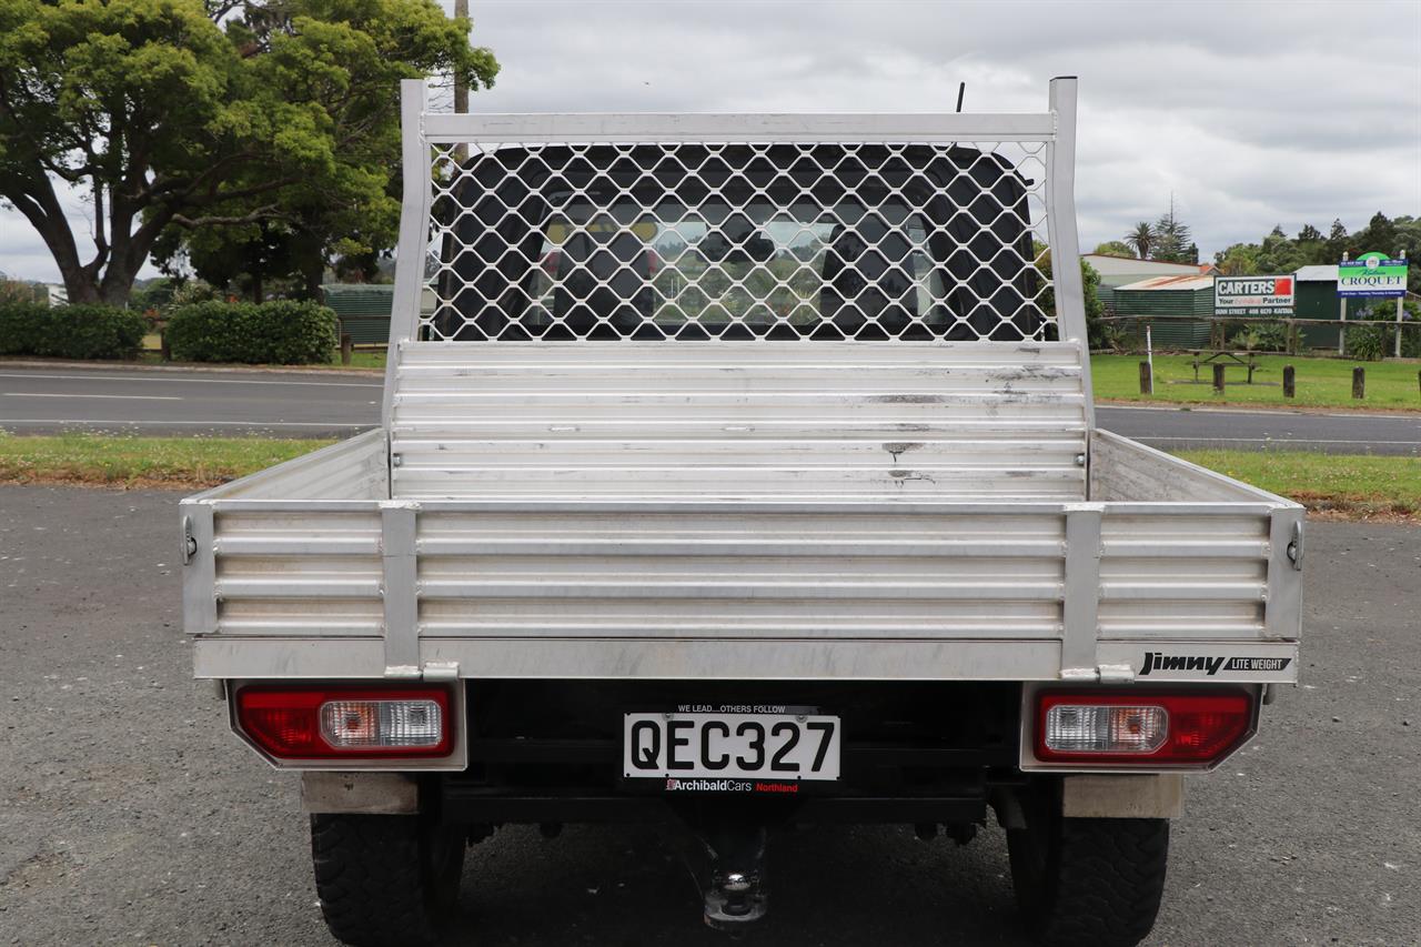
[[[0,944],[327,946],[297,782],[189,678],[176,493],[0,486]],[[1421,529],[1313,523],[1303,685],[1189,781],[1152,947],[1415,944]],[[713,947],[676,838],[503,830],[469,855],[482,947]],[[749,947],[1007,944],[1000,830],[777,838]]]

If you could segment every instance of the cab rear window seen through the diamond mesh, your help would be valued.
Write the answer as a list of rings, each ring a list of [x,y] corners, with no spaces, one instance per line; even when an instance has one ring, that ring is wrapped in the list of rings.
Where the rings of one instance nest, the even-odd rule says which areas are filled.
[[[588,319],[649,323],[666,337],[736,326],[804,334],[836,317],[941,330],[949,314],[926,242],[921,215],[901,200],[573,200],[543,228],[524,319],[539,334]]]

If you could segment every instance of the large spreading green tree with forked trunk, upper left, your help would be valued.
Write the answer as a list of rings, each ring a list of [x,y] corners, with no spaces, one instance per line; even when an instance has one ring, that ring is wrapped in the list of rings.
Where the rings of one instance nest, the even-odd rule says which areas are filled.
[[[497,65],[468,33],[432,0],[0,0],[0,198],[75,303],[125,301],[169,228],[259,226],[294,206],[382,222],[396,80],[487,84]],[[67,191],[91,203],[88,259]]]

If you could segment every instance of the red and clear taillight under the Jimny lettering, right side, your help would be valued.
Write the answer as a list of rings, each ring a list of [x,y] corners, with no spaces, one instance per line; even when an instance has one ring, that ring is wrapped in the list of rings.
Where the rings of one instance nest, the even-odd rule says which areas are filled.
[[[1245,691],[1043,692],[1036,704],[1036,758],[1049,764],[1206,766],[1253,731]]]

